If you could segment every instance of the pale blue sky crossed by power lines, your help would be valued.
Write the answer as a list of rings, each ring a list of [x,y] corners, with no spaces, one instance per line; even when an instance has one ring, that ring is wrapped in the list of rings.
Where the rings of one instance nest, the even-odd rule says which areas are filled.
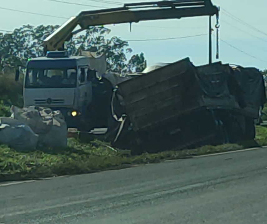
[[[123,3],[140,2],[141,0],[112,0],[113,2],[123,2],[121,5],[90,1],[90,0],[61,0],[64,2],[75,2],[100,7],[119,7]],[[108,1],[108,0],[106,0]],[[111,0],[109,0],[111,1]],[[150,0],[143,0],[150,1]],[[220,37],[229,44],[253,55],[259,59],[254,59],[245,53],[220,42],[220,60],[223,63],[240,64],[242,66],[253,66],[259,69],[267,68],[267,35],[255,31],[242,23],[233,20],[227,16],[225,11],[234,14],[236,17],[249,23],[251,26],[267,33],[266,0],[248,1],[248,0],[213,0],[213,4],[221,7],[220,19]],[[255,4],[255,2],[257,2]],[[49,0],[1,0],[1,6],[15,10],[36,12],[48,15],[57,15],[60,17],[71,17],[77,15],[80,11],[95,10],[97,7],[79,6],[52,2]],[[31,15],[22,12],[9,11],[0,8],[0,20],[2,30],[13,30],[22,26],[22,24],[40,25],[40,24],[62,24],[66,19],[45,17],[40,15]],[[215,17],[213,24],[215,24]],[[236,26],[238,29],[230,26]],[[132,32],[129,31],[129,24],[116,26],[107,26],[111,28],[112,36],[119,36],[124,40],[134,39],[154,39],[170,38],[179,36],[191,36],[205,34],[208,30],[208,17],[183,18],[180,20],[165,21],[143,21],[132,25]],[[240,31],[242,30],[242,31]],[[246,34],[248,33],[248,34]],[[215,34],[215,32],[214,32]],[[252,36],[250,36],[250,35]],[[260,40],[259,38],[262,40]],[[129,41],[130,47],[134,53],[144,52],[148,64],[158,62],[174,62],[184,57],[190,57],[195,65],[206,64],[208,37],[199,36],[187,39],[165,40],[165,41]],[[215,38],[213,39],[213,61],[215,61]]]

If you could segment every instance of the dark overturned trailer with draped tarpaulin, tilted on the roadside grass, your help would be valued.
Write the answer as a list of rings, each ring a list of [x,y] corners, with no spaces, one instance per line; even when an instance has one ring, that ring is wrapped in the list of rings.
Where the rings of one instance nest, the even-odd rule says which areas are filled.
[[[140,151],[254,139],[254,119],[266,101],[257,69],[221,62],[196,67],[185,58],[146,74],[104,79],[116,87],[111,113],[119,122],[108,138]]]

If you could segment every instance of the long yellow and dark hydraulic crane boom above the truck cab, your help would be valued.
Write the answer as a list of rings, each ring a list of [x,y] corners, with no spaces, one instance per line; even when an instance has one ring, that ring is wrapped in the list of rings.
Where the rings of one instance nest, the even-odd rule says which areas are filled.
[[[46,54],[47,51],[63,50],[65,41],[70,40],[73,34],[91,26],[213,15],[216,15],[218,20],[219,9],[211,0],[139,2],[124,4],[119,8],[82,11],[44,40],[44,51]],[[73,32],[77,25],[80,25],[81,29]]]

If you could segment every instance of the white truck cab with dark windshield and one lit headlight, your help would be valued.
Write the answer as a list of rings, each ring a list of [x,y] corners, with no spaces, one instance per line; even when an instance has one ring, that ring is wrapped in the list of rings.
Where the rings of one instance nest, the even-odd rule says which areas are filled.
[[[68,128],[80,129],[92,103],[92,83],[105,70],[105,57],[91,52],[68,56],[66,51],[51,51],[46,57],[30,59],[23,82],[24,107],[60,110]]]

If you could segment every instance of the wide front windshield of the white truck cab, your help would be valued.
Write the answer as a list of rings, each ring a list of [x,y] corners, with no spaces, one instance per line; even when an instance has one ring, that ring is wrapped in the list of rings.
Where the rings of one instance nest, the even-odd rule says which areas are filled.
[[[77,72],[69,69],[27,69],[25,88],[74,88]]]

